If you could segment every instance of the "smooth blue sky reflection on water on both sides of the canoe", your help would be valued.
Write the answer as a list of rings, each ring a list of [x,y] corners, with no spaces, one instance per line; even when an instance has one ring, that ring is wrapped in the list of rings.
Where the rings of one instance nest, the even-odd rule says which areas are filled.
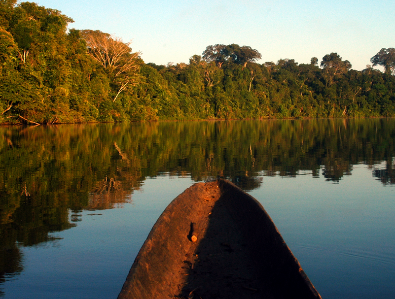
[[[395,295],[394,186],[378,184],[363,165],[338,184],[311,175],[262,178],[250,194],[323,298]],[[3,284],[5,298],[116,298],[160,213],[193,183],[189,177],[148,178],[133,203],[82,211],[78,225],[55,233],[56,241],[21,246],[24,271]]]

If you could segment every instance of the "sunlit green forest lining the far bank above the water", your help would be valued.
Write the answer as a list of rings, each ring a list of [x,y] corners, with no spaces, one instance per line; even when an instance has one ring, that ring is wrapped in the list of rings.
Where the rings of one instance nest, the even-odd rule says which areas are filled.
[[[237,44],[159,66],[119,37],[68,30],[72,22],[0,0],[0,124],[395,116],[394,48],[361,71],[334,52],[258,64],[257,50]]]

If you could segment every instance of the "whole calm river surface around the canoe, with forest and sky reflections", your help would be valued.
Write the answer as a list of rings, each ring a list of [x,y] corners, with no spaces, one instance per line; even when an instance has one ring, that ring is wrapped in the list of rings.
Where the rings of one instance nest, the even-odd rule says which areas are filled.
[[[0,297],[116,298],[197,181],[258,199],[324,299],[395,298],[395,120],[0,127]]]

